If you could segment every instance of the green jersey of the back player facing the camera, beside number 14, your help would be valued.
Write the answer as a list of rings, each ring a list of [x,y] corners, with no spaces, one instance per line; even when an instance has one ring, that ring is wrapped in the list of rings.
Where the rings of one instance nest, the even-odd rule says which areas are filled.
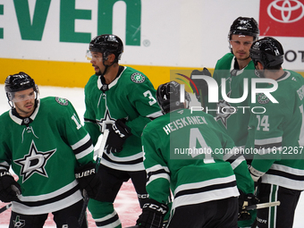
[[[218,103],[207,104],[207,113],[215,116],[215,120],[220,123],[224,130],[233,139],[237,147],[244,148],[247,143],[248,122],[250,116],[249,106],[251,104],[251,79],[258,78],[255,73],[255,66],[252,61],[242,70],[235,69],[237,65],[236,59],[232,53],[224,55],[215,65],[213,78],[216,80],[219,97]],[[224,79],[224,84],[222,83]],[[247,79],[248,83],[244,83]],[[246,91],[244,88],[248,86]],[[257,87],[262,87],[257,84]],[[227,102],[222,96],[224,94],[229,98],[241,98],[248,93],[248,97],[238,103]]]

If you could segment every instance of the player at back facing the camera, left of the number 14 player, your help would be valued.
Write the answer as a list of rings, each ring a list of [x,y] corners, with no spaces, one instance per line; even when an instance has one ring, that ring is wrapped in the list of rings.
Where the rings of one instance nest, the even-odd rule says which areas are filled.
[[[233,21],[228,33],[231,53],[217,61],[213,74],[219,88],[218,103],[207,103],[205,99],[205,111],[215,116],[215,120],[227,131],[239,148],[245,148],[247,142],[251,79],[257,78],[254,64],[249,57],[249,48],[253,41],[258,39],[258,34],[258,23],[253,18],[238,17]],[[248,80],[248,83],[244,80]],[[202,83],[201,80],[194,82],[198,85]],[[244,83],[248,85],[247,91],[244,89]],[[228,98],[241,98],[245,92],[248,92],[248,97],[242,102],[227,102],[227,98],[224,99],[222,96],[223,87]]]

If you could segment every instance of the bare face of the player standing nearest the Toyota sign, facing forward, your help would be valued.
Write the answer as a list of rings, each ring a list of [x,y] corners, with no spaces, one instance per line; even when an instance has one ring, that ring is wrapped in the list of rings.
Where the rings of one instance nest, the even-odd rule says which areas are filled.
[[[237,60],[249,59],[249,49],[253,43],[253,37],[242,36],[242,35],[232,35],[230,44],[232,46],[233,55]]]

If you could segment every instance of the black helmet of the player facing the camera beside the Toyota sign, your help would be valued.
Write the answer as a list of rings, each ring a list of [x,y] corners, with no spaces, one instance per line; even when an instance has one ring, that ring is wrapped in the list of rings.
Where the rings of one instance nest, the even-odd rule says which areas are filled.
[[[231,40],[232,35],[251,36],[253,40],[258,39],[258,22],[254,18],[238,17],[233,21],[228,33],[228,39]]]

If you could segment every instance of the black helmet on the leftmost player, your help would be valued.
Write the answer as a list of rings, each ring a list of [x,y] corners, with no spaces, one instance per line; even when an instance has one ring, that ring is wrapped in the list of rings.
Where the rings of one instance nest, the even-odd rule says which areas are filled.
[[[38,87],[35,84],[35,81],[25,72],[9,75],[4,82],[4,89],[9,101],[13,100],[14,92],[31,88],[33,88],[35,92],[38,92]]]

